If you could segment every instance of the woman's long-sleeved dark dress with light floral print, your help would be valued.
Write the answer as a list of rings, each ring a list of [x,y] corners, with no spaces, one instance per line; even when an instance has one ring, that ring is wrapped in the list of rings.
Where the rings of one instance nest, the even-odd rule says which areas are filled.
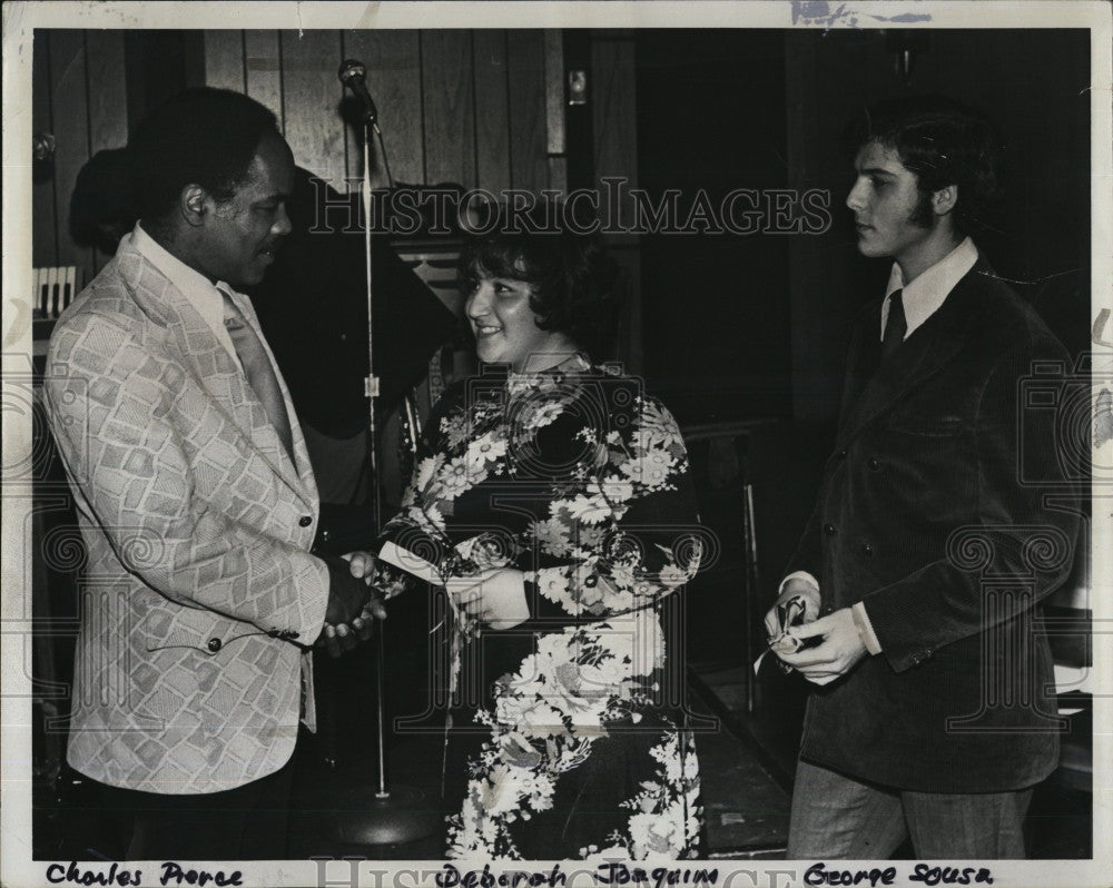
[[[502,631],[449,613],[449,857],[695,855],[699,771],[667,654],[697,521],[679,430],[634,379],[578,356],[437,403],[381,543],[434,585],[518,569],[530,605]],[[413,584],[380,571],[387,594]]]

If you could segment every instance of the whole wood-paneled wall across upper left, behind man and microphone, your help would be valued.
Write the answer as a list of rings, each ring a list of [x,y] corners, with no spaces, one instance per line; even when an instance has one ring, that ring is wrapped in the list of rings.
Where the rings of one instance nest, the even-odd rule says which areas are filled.
[[[397,182],[453,181],[493,193],[567,187],[560,31],[183,33],[183,57],[167,62],[185,68],[181,82],[258,99],[278,117],[298,165],[342,191],[357,187],[363,157],[358,134],[341,116],[345,90],[336,71],[346,58],[367,67]],[[35,130],[53,134],[57,152],[35,185],[33,263],[78,266],[79,286],[107,257],[69,236],[78,171],[101,148],[122,146],[144,103],[161,98],[142,88],[149,66],[134,63],[141,42],[135,31],[36,32]],[[372,162],[374,187],[385,186],[377,150]]]

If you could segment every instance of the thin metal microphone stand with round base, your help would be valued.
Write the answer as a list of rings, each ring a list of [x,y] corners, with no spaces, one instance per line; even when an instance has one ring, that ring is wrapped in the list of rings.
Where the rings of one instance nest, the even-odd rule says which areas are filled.
[[[372,300],[372,254],[371,254],[371,135],[372,129],[382,134],[378,122],[370,108],[363,118],[363,231],[364,249],[367,258],[367,372],[364,393],[367,397],[367,465],[371,472],[371,507],[376,532],[382,522],[382,492],[378,484],[378,441],[375,425],[375,399],[378,397],[378,377],[375,375],[374,328],[372,325],[374,305]],[[390,178],[390,167],[387,167]],[[393,187],[393,182],[388,182]],[[386,779],[386,714],[383,673],[386,671],[386,637],[382,623],[376,625],[375,639],[375,732],[377,740],[378,781],[371,805],[367,805],[367,787],[358,781],[348,781],[341,790],[338,799],[337,832],[347,845],[382,846],[402,845],[433,835],[441,823],[440,811],[429,807],[427,793],[414,787],[395,783]]]

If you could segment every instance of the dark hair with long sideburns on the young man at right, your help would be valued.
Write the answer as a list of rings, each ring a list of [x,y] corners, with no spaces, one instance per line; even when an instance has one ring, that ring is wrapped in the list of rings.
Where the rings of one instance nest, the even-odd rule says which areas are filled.
[[[953,219],[958,235],[983,227],[986,209],[999,196],[996,134],[983,114],[953,99],[913,96],[878,102],[853,121],[847,142],[854,151],[870,142],[895,150],[916,175],[920,195],[957,185]]]

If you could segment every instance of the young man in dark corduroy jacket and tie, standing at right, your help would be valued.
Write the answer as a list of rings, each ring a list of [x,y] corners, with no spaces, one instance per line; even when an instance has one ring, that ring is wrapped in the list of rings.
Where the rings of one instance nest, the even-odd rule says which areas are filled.
[[[969,237],[994,190],[985,121],[906,99],[857,144],[858,249],[894,264],[855,325],[835,448],[766,616],[816,685],[788,856],[885,858],[910,836],[924,858],[1023,857],[1060,730],[1033,618],[1076,519],[1045,502],[1053,412],[1020,394],[1066,355]],[[804,621],[781,634],[795,598]]]

